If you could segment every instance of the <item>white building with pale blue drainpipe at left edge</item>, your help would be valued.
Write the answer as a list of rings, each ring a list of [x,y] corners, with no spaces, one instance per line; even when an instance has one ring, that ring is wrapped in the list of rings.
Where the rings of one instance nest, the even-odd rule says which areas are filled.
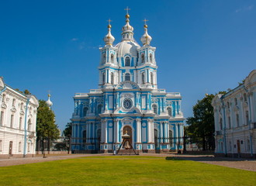
[[[0,77],[0,158],[36,153],[38,105],[35,96],[14,90]]]

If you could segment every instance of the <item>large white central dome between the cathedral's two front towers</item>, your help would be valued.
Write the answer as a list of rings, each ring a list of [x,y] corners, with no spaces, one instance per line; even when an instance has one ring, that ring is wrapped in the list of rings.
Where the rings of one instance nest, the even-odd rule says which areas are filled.
[[[140,45],[134,41],[131,40],[124,40],[116,46],[118,48],[117,53],[118,57],[124,57],[126,53],[130,54],[131,56],[137,57],[137,49],[140,48]]]

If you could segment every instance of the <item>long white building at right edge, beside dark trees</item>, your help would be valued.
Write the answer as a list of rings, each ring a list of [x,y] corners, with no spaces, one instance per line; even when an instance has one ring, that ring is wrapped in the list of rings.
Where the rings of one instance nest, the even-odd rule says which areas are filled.
[[[256,157],[256,70],[212,102],[216,156]]]

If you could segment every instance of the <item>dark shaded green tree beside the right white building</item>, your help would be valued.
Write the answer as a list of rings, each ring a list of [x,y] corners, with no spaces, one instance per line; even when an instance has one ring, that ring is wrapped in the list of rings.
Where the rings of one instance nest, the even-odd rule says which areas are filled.
[[[189,117],[185,134],[202,150],[214,149],[214,113],[211,105],[214,95],[206,95],[193,106],[194,117]]]

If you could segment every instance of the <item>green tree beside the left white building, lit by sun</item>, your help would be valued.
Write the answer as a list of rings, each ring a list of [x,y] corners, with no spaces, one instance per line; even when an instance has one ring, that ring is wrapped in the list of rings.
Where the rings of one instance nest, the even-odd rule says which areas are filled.
[[[46,140],[48,142],[48,150],[50,150],[50,140],[57,140],[60,137],[60,130],[55,124],[54,112],[43,100],[39,100],[39,107],[37,109],[36,133],[37,144],[39,146],[41,142],[43,144],[43,150]]]

